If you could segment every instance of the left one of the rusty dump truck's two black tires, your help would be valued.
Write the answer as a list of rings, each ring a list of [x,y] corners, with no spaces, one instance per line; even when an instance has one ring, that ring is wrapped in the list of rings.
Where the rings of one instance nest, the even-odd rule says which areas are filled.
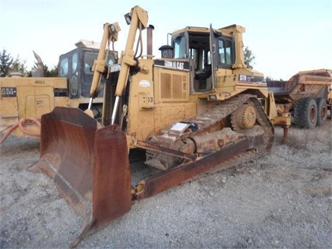
[[[297,127],[313,129],[317,124],[317,104],[313,98],[301,98],[295,103],[294,122]]]

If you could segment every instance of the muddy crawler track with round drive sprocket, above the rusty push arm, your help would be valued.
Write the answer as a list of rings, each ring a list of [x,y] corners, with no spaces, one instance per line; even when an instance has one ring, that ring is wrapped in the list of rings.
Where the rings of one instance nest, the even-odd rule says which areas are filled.
[[[259,136],[259,133],[266,133],[264,143],[272,144],[273,139],[270,136],[273,135],[273,127],[261,109],[255,96],[238,95],[216,105],[201,116],[181,122],[187,124],[185,131],[163,129],[161,134],[150,137],[148,142],[150,145],[201,156],[234,143],[244,136]],[[163,149],[159,150],[161,152],[148,149],[147,165],[165,170],[181,162],[180,155],[163,154]],[[194,158],[189,155],[188,157]]]

